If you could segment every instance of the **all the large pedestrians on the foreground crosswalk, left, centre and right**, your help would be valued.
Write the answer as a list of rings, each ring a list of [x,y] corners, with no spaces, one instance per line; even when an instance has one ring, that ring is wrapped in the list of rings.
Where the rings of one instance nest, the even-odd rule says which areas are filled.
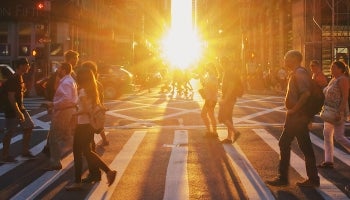
[[[294,139],[305,157],[307,179],[297,182],[299,187],[319,187],[320,178],[318,169],[334,169],[333,138],[350,152],[350,140],[345,136],[345,122],[349,116],[349,69],[341,61],[331,64],[332,78],[328,81],[322,72],[319,61],[310,62],[312,75],[303,67],[303,56],[297,50],[290,50],[285,54],[284,67],[281,70],[281,86],[284,87],[284,70],[290,72],[285,94],[285,122],[279,138],[280,159],[277,176],[266,183],[271,186],[286,186],[289,184],[289,166],[291,157],[291,144]],[[95,104],[103,103],[103,86],[98,82],[98,66],[93,61],[86,61],[78,66],[79,53],[73,50],[65,52],[65,62],[61,63],[57,71],[49,78],[47,84],[50,94],[49,108],[52,109],[51,125],[47,136],[47,145],[43,154],[47,156],[47,166],[44,170],[62,169],[61,158],[66,151],[73,150],[75,175],[73,183],[66,186],[69,191],[79,190],[82,183],[94,183],[101,180],[101,171],[107,176],[108,185],[112,185],[117,171],[111,169],[95,152],[94,134],[96,130],[91,126],[89,110]],[[10,141],[12,135],[20,125],[23,131],[22,157],[35,159],[29,151],[29,143],[34,123],[23,104],[25,84],[23,75],[28,73],[30,65],[27,59],[20,58],[15,62],[15,74],[8,79],[3,91],[6,99],[5,135],[3,137],[3,150],[1,161],[3,163],[15,162],[10,154]],[[316,157],[310,139],[310,122],[314,116],[307,113],[305,104],[312,95],[310,92],[311,80],[314,79],[323,89],[324,103],[321,118],[324,120],[324,161],[316,163]],[[228,59],[219,63],[210,63],[204,67],[201,74],[201,96],[204,105],[201,118],[205,124],[204,136],[217,138],[217,124],[222,123],[227,128],[227,136],[221,142],[233,144],[240,132],[233,123],[233,109],[237,99],[244,93],[245,84],[242,81],[239,67],[232,65]],[[221,97],[219,90],[221,86]],[[215,107],[218,104],[218,115],[215,116]],[[332,120],[326,116],[333,117]],[[102,144],[108,145],[104,130],[99,130]],[[82,178],[83,157],[85,157],[89,174]],[[345,186],[350,192],[350,185]]]

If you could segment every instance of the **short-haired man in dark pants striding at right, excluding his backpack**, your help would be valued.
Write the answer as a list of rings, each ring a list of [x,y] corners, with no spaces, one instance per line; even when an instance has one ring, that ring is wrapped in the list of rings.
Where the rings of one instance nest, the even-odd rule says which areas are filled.
[[[316,158],[310,140],[308,123],[311,118],[305,112],[303,105],[310,96],[311,76],[301,66],[303,56],[297,50],[290,50],[285,54],[284,65],[286,69],[293,71],[289,78],[288,88],[285,96],[287,109],[283,131],[279,139],[280,161],[278,175],[275,179],[267,181],[272,186],[285,186],[289,184],[288,169],[290,165],[291,143],[297,139],[299,148],[304,154],[306,174],[308,179],[297,182],[299,187],[319,187]]]

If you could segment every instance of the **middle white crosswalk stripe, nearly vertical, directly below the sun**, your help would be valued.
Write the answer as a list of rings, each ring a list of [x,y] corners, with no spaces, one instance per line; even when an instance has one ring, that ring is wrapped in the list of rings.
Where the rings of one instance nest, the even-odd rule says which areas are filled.
[[[164,200],[189,199],[189,185],[187,173],[188,131],[175,130],[172,149],[165,180]]]

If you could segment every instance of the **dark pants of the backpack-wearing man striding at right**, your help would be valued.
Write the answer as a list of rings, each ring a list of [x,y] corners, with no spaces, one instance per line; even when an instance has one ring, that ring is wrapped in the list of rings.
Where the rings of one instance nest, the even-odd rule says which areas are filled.
[[[312,181],[319,181],[318,171],[316,167],[316,158],[314,150],[312,148],[308,129],[310,120],[310,117],[300,112],[292,115],[286,115],[284,129],[279,139],[279,176],[282,179],[288,180],[288,168],[290,164],[291,151],[290,146],[294,138],[296,138],[299,148],[305,157],[307,176]]]

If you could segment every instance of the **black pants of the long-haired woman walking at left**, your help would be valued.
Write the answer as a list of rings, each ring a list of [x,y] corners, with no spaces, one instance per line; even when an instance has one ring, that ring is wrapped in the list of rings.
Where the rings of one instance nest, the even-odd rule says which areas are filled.
[[[74,132],[73,155],[75,168],[75,182],[81,182],[83,168],[83,155],[86,158],[89,168],[98,168],[104,172],[110,171],[109,167],[91,149],[91,140],[94,137],[94,130],[90,124],[78,124]]]

